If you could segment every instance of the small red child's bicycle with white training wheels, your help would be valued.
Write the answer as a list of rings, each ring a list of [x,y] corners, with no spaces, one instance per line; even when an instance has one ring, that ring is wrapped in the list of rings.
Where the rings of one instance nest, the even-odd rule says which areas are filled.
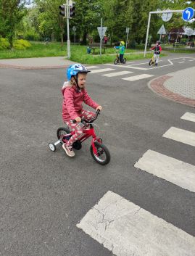
[[[81,125],[83,125],[83,136],[78,140],[75,141],[72,145],[73,149],[80,150],[82,148],[83,141],[86,141],[89,137],[92,136],[91,140],[91,146],[90,146],[90,152],[92,157],[96,162],[98,162],[100,165],[107,165],[110,161],[110,154],[109,150],[107,149],[107,146],[102,144],[102,139],[96,136],[94,126],[92,123],[94,123],[94,120],[97,119],[99,115],[99,110],[96,111],[96,116],[93,120],[87,121],[87,120],[81,120]],[[76,123],[75,120],[72,120],[73,123]],[[78,123],[78,125],[80,125]],[[58,141],[53,143],[49,143],[49,149],[51,151],[56,151],[56,146],[58,144],[64,144],[67,143],[67,141],[70,139],[70,137],[75,134],[75,131],[69,130],[69,128],[60,127],[57,129],[57,139]]]

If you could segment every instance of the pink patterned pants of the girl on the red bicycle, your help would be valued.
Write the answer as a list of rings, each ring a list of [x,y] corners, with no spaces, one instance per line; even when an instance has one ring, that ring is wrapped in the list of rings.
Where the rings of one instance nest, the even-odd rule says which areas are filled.
[[[80,118],[90,121],[95,117],[94,112],[82,110]],[[67,141],[67,146],[72,146],[72,144],[83,136],[83,127],[80,127],[79,123],[72,123],[72,120],[66,121],[67,126],[70,131],[75,131],[69,141]]]

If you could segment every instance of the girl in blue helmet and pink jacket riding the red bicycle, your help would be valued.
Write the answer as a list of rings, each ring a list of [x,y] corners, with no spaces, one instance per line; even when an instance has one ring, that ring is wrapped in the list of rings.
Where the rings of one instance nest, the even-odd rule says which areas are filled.
[[[94,102],[86,91],[86,76],[90,72],[83,65],[78,63],[70,65],[67,68],[67,82],[62,86],[63,104],[62,118],[71,131],[75,131],[69,141],[63,144],[66,154],[74,157],[75,152],[72,150],[72,144],[83,136],[83,127],[80,127],[81,118],[91,120],[95,116],[94,112],[83,109],[83,102],[94,110],[102,110],[102,107]],[[77,123],[72,123],[76,120]]]

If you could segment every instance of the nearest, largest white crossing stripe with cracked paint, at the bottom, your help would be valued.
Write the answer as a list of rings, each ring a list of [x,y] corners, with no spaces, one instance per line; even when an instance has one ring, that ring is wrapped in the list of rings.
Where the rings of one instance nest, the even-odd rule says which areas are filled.
[[[78,228],[117,256],[194,256],[195,238],[108,191]]]

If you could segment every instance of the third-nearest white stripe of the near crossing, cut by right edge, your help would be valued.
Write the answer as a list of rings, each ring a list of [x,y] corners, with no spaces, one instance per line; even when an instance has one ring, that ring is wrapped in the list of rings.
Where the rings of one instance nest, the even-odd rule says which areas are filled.
[[[171,127],[163,137],[173,139],[174,141],[180,141],[182,143],[195,146],[195,133],[186,131],[180,128]]]

